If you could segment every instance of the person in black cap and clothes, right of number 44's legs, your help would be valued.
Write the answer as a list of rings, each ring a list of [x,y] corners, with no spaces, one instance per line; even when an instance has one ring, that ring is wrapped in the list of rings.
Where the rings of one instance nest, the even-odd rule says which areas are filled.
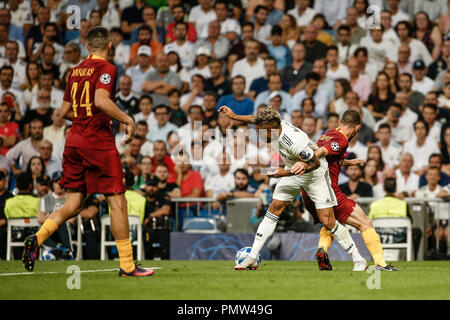
[[[170,197],[161,192],[158,187],[159,179],[150,175],[145,181],[145,216],[144,216],[144,250],[145,258],[169,259],[171,212]],[[156,245],[156,244],[159,244]]]

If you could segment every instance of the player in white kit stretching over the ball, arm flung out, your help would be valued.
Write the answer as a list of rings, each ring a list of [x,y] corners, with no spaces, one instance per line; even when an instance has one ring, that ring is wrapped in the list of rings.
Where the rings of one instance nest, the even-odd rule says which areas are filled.
[[[275,187],[272,202],[256,231],[250,254],[234,268],[246,270],[258,267],[256,258],[266,240],[275,231],[281,213],[303,189],[315,203],[322,225],[331,231],[347,253],[355,250],[356,245],[350,233],[334,217],[333,207],[337,205],[337,200],[331,188],[328,163],[325,158],[316,157],[314,150],[317,145],[306,133],[282,120],[280,114],[272,108],[267,108],[256,116],[236,115],[227,106],[220,107],[219,112],[225,113],[232,120],[254,124],[260,136],[261,130],[265,129],[267,142],[278,144],[280,156],[289,172],[286,174],[286,170],[277,170],[272,174],[281,178]]]

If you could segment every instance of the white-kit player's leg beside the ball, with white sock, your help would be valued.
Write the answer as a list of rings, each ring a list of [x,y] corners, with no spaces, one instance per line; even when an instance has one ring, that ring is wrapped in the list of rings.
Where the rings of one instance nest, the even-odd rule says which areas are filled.
[[[256,231],[255,240],[253,242],[250,254],[247,256],[247,258],[244,259],[244,261],[236,265],[234,269],[254,270],[258,267],[258,265],[256,264],[256,258],[258,257],[258,254],[260,253],[267,239],[274,233],[281,213],[283,213],[284,209],[289,204],[289,201],[281,201],[276,199],[272,200],[272,203],[270,204],[269,209],[264,216],[264,219],[258,226],[258,230]]]

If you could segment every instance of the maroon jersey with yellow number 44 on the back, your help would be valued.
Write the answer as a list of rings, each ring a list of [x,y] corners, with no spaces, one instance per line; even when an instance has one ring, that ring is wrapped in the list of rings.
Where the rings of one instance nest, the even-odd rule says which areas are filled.
[[[67,147],[97,150],[115,149],[110,118],[95,105],[95,90],[105,89],[115,96],[117,69],[105,59],[89,55],[69,74],[64,101],[73,111]]]

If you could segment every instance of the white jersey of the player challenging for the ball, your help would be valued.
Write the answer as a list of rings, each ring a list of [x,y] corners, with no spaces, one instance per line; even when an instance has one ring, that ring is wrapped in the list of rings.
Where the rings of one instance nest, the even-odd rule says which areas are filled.
[[[278,152],[286,164],[286,169],[290,169],[298,161],[311,160],[316,149],[318,149],[317,145],[304,131],[285,120],[281,121]]]

